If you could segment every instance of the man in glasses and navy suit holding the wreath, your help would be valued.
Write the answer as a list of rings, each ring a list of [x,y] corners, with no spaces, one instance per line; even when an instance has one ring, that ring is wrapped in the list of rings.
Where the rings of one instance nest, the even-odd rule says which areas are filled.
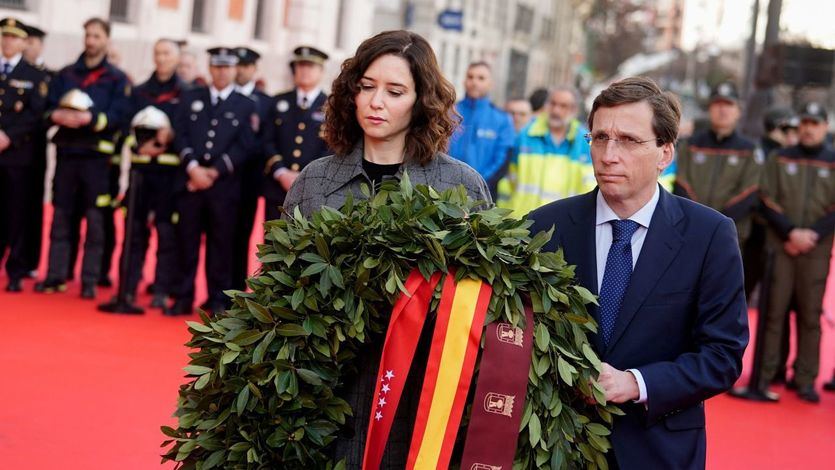
[[[748,343],[731,219],[658,183],[672,162],[678,100],[646,78],[616,82],[589,114],[598,187],[529,216],[556,227],[580,284],[599,295],[592,339],[615,417],[615,468],[705,466],[704,401],[728,390]]]

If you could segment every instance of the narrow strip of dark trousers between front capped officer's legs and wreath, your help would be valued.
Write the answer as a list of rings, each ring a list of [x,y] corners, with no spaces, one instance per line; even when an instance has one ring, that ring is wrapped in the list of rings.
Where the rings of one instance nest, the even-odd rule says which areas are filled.
[[[241,202],[232,254],[232,288],[237,290],[246,290],[246,279],[252,274],[249,269],[249,247],[263,179],[258,163],[260,160],[257,159],[247,162],[242,172]]]

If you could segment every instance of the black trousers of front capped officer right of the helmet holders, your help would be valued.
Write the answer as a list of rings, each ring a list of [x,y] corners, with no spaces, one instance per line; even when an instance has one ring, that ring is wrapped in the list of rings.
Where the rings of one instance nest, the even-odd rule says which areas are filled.
[[[240,198],[238,175],[221,178],[207,190],[179,195],[177,250],[182,277],[175,294],[178,301],[194,302],[200,240],[205,234],[208,302],[229,304],[223,291],[232,288],[232,251]]]

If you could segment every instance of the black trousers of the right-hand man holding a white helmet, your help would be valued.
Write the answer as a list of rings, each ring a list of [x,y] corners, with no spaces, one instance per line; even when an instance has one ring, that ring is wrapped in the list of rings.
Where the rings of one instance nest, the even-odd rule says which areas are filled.
[[[157,264],[154,271],[155,292],[170,294],[180,280],[177,258],[177,231],[172,216],[176,210],[174,185],[178,168],[136,169],[140,183],[129,187],[127,200],[136,191],[136,207],[128,209],[127,217],[133,222],[130,246],[123,245],[122,256],[128,256],[127,292],[136,293],[142,279],[142,267],[148,252],[151,226],[157,232]],[[127,229],[127,224],[125,225]],[[125,237],[125,243],[128,237]]]

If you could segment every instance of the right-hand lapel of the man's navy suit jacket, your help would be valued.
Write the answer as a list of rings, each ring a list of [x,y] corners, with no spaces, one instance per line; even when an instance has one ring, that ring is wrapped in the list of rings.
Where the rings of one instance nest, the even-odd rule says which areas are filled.
[[[684,239],[676,229],[683,213],[678,202],[667,191],[661,189],[658,206],[652,216],[638,263],[632,271],[629,287],[623,296],[620,313],[615,322],[615,331],[606,348],[608,354],[617,344],[629,323],[635,317],[644,300],[652,292],[661,276],[673,262]]]

